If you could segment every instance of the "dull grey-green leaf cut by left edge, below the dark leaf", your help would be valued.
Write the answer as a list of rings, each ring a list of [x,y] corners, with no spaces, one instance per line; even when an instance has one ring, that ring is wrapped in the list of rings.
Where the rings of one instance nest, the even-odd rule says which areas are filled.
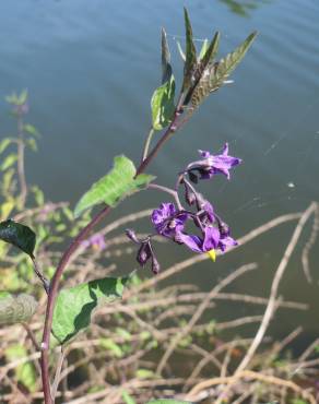
[[[31,295],[21,294],[13,296],[1,293],[0,298],[0,324],[15,324],[31,320],[37,309],[37,302]]]

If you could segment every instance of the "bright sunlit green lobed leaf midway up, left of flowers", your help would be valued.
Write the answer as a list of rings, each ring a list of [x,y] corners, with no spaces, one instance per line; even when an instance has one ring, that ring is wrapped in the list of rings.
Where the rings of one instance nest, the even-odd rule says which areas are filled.
[[[78,202],[74,216],[79,217],[82,212],[99,203],[106,203],[109,206],[116,206],[126,197],[133,192],[146,188],[155,177],[146,174],[140,174],[135,177],[137,169],[133,162],[123,155],[116,156],[114,168],[93,183],[91,189]]]

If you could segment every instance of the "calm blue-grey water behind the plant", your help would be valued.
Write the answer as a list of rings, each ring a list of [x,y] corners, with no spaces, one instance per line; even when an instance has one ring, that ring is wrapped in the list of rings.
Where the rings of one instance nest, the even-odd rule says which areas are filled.
[[[198,39],[222,31],[222,54],[253,29],[260,35],[234,74],[235,84],[210,97],[150,171],[160,183],[173,183],[174,173],[194,159],[198,148],[216,151],[228,141],[232,153],[245,164],[233,181],[206,183],[205,193],[233,225],[236,237],[318,201],[319,2],[241,2],[255,4],[246,9],[229,3],[234,2],[2,0],[0,133],[12,131],[4,95],[27,87],[29,121],[43,133],[39,153],[28,156],[29,182],[38,183],[54,201],[74,204],[105,174],[114,155],[123,152],[139,159],[150,124],[150,97],[161,76],[160,27],[164,25],[169,34],[178,70],[176,37],[184,35],[186,4]],[[141,193],[125,202],[113,218],[154,206],[158,198],[150,192],[145,199]],[[258,261],[258,273],[232,289],[267,296],[292,231],[292,225],[276,228],[215,265],[203,263],[188,270],[182,282],[208,288],[238,265]],[[176,246],[165,248],[169,254],[162,254],[163,266],[190,257]],[[310,310],[282,311],[275,332],[284,335],[302,323],[307,336],[314,337],[319,331],[318,243],[311,253],[316,280],[311,286],[303,275],[299,252],[293,257],[281,293],[309,302]],[[125,265],[131,269],[131,262]],[[233,311],[234,307],[225,309],[222,316],[232,318]]]

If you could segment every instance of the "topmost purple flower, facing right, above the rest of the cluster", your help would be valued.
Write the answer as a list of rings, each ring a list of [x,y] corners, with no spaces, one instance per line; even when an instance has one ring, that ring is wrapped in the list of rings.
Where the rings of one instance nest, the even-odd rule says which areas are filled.
[[[229,179],[229,169],[241,163],[240,158],[228,155],[228,143],[225,143],[222,154],[213,155],[206,151],[199,153],[202,159],[189,164],[187,171],[198,170],[200,179],[210,179],[215,174],[223,174]]]

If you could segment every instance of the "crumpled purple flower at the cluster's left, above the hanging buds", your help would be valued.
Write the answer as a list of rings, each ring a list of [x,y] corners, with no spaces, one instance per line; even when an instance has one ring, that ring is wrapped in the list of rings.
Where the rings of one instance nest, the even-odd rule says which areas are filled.
[[[187,213],[176,211],[174,203],[168,202],[161,203],[160,209],[153,211],[151,219],[160,235],[174,238],[184,229],[187,217]]]

